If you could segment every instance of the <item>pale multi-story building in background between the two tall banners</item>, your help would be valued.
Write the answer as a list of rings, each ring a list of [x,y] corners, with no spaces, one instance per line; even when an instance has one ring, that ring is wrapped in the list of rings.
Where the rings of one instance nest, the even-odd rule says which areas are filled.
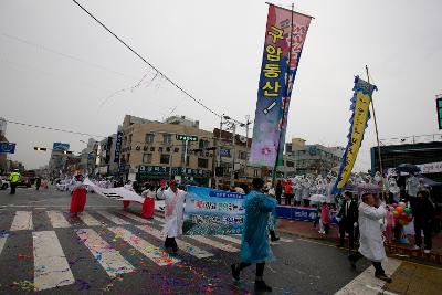
[[[285,154],[295,160],[296,175],[327,175],[343,161],[343,147],[325,147],[323,145],[306,145],[302,138],[292,138],[285,145]]]

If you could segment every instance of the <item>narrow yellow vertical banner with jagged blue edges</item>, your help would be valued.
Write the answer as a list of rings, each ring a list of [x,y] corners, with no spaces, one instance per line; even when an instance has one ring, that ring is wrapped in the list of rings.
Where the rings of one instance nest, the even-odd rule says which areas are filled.
[[[364,133],[367,128],[367,123],[370,119],[370,103],[373,91],[378,88],[375,85],[368,84],[360,80],[358,76],[355,77],[354,96],[351,98],[350,110],[352,112],[350,118],[350,130],[347,136],[348,145],[344,152],[343,164],[339,169],[338,178],[333,188],[333,193],[341,191],[344,186],[347,183],[352,167],[355,166],[356,158],[360,145],[364,140]]]

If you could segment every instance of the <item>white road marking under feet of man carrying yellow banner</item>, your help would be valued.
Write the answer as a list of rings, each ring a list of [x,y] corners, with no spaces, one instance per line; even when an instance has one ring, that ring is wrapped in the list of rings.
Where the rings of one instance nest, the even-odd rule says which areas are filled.
[[[398,267],[401,265],[401,262],[394,259],[387,259],[382,263],[382,267],[386,271],[388,276],[391,276]],[[381,292],[382,294],[392,294],[386,293],[383,291],[386,282],[375,277],[375,268],[373,266],[365,270],[360,275],[355,277],[350,283],[339,289],[335,295],[348,295],[348,294],[364,294],[364,295],[377,295]]]

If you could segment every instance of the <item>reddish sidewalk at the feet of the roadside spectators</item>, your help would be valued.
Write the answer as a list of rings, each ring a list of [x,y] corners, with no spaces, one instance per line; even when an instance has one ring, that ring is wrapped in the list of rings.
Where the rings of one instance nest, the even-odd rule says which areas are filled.
[[[339,243],[339,229],[337,225],[330,226],[327,236],[325,236],[324,234],[319,234],[318,230],[318,225],[316,226],[316,229],[313,228],[313,222],[288,219],[277,220],[278,232],[294,234],[299,238],[322,240],[335,245]],[[433,249],[430,254],[424,254],[423,251],[412,250],[414,238],[412,235],[409,235],[408,239],[410,244],[386,244],[387,254],[399,259],[442,265],[442,234],[439,233],[433,235]],[[347,240],[346,243],[348,243]]]

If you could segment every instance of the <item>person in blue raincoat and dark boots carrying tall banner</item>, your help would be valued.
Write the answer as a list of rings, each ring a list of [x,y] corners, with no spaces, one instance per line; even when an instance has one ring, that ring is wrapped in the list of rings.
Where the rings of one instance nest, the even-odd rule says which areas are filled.
[[[263,280],[265,262],[274,261],[269,242],[269,213],[274,212],[276,200],[262,192],[264,181],[255,178],[253,189],[245,196],[245,220],[241,240],[240,263],[231,265],[232,276],[240,280],[243,268],[256,263],[255,288],[271,292],[272,287]]]

